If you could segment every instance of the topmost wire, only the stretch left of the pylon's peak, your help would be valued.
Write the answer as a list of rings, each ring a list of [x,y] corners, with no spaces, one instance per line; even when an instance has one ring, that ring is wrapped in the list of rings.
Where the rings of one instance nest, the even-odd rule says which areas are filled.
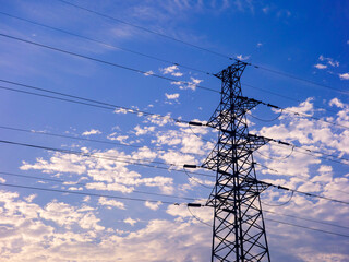
[[[77,5],[77,4],[74,4],[74,3],[71,3],[71,2],[64,1],[64,0],[58,0],[58,1],[60,1],[60,2],[62,2],[62,3],[65,3],[65,4],[69,4],[69,5],[71,5],[71,7],[74,7],[74,8],[84,10],[84,11],[87,11],[87,12],[89,12],[89,13],[99,15],[99,16],[101,16],[101,17],[109,19],[109,20],[116,21],[116,22],[118,22],[118,23],[121,23],[121,24],[124,24],[124,25],[129,25],[129,26],[132,26],[132,27],[134,27],[134,28],[141,29],[141,31],[144,31],[144,32],[147,32],[147,33],[157,35],[157,36],[161,36],[161,37],[164,37],[164,38],[171,39],[171,40],[173,40],[173,41],[178,41],[178,43],[181,43],[181,44],[186,45],[186,46],[190,46],[190,47],[194,47],[194,48],[200,49],[200,50],[202,50],[202,51],[210,52],[210,53],[213,53],[213,55],[216,55],[216,56],[219,56],[219,57],[224,57],[224,58],[228,58],[228,59],[230,59],[230,60],[233,59],[233,58],[230,58],[229,56],[226,56],[226,55],[224,55],[224,53],[220,53],[220,52],[217,52],[217,51],[214,51],[214,50],[204,48],[204,47],[200,47],[200,46],[194,45],[194,44],[190,44],[190,43],[188,43],[188,41],[178,39],[178,38],[176,38],[176,37],[168,36],[168,35],[165,35],[165,34],[161,34],[161,33],[158,33],[158,32],[155,32],[155,31],[145,28],[145,27],[143,27],[143,26],[132,24],[132,23],[125,22],[125,21],[123,21],[123,20],[116,19],[116,17],[113,17],[113,16],[109,16],[109,15],[107,15],[107,14],[103,14],[103,13],[99,13],[99,12],[97,12],[97,11],[94,11],[94,10],[91,10],[91,9],[87,9],[87,8],[84,8],[84,7],[81,7],[81,5]]]

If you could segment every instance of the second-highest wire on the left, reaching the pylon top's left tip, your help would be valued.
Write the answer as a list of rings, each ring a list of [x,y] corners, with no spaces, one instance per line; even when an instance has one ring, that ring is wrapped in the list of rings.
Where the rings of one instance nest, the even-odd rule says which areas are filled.
[[[56,31],[56,32],[60,32],[60,33],[64,33],[64,34],[68,34],[68,35],[71,35],[71,36],[75,36],[75,37],[79,37],[81,39],[85,39],[85,40],[89,40],[89,41],[93,41],[93,43],[97,43],[97,44],[100,44],[100,45],[106,46],[108,48],[119,49],[119,50],[122,50],[122,51],[127,51],[127,52],[131,52],[131,53],[139,55],[139,56],[142,56],[142,57],[146,57],[146,58],[149,58],[149,59],[154,59],[154,60],[157,60],[157,61],[160,61],[160,62],[164,62],[164,63],[169,63],[169,64],[172,64],[172,66],[178,66],[178,67],[181,67],[181,68],[190,69],[190,70],[193,70],[193,71],[196,71],[196,72],[200,72],[200,73],[213,75],[213,73],[209,73],[209,72],[204,71],[204,70],[195,69],[195,68],[192,68],[192,67],[189,67],[189,66],[184,66],[184,64],[181,64],[181,63],[178,63],[178,62],[172,62],[172,61],[169,61],[169,60],[166,60],[166,59],[163,59],[163,58],[158,58],[158,57],[155,57],[155,56],[151,56],[151,55],[147,55],[147,53],[144,53],[144,52],[131,50],[129,48],[124,48],[124,47],[120,47],[120,46],[116,46],[116,45],[110,45],[110,44],[107,44],[107,43],[101,41],[101,40],[97,40],[97,39],[94,39],[94,38],[91,38],[91,37],[87,37],[87,36],[83,36],[83,35],[79,35],[79,34],[75,34],[75,33],[72,33],[72,32],[69,32],[69,31],[64,31],[64,29],[57,28],[57,27],[53,27],[53,26],[50,26],[50,25],[46,25],[46,24],[43,24],[43,23],[38,23],[38,22],[35,22],[35,21],[23,19],[23,17],[20,17],[20,16],[13,15],[13,14],[9,14],[9,13],[1,12],[1,11],[0,11],[0,14],[7,15],[9,17],[16,19],[16,20],[20,20],[20,21],[23,21],[23,22],[26,22],[26,23],[38,25],[38,26],[41,26],[41,27],[45,27],[45,28],[49,28],[49,29],[52,29],[52,31]]]

